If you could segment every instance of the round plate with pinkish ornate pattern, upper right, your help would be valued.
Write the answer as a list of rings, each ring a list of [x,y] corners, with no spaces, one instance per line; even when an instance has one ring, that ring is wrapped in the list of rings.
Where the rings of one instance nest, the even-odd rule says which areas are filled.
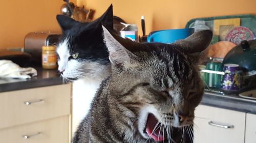
[[[252,31],[249,28],[243,26],[232,28],[232,30],[230,30],[225,37],[225,41],[233,42],[236,45],[239,45],[243,40],[248,41],[253,39],[254,35]]]

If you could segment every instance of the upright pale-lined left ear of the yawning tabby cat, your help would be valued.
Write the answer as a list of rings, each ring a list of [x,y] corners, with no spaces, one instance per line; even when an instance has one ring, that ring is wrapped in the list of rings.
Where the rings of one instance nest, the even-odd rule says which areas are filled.
[[[131,57],[135,57],[131,51],[127,50],[119,41],[122,41],[121,37],[108,31],[103,25],[103,36],[106,47],[109,50],[109,59],[112,65],[117,68],[135,66],[135,63]]]

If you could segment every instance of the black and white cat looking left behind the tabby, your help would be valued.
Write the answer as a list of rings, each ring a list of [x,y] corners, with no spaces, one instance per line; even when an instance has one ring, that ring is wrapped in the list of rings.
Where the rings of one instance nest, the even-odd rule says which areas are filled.
[[[81,23],[57,15],[62,37],[57,45],[58,70],[73,82],[73,127],[87,115],[100,82],[110,74],[108,50],[101,24],[113,29],[112,5],[97,20]]]

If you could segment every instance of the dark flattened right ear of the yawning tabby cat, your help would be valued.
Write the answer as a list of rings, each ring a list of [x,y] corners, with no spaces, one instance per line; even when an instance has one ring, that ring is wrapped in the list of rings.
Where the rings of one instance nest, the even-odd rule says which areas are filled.
[[[204,30],[196,32],[184,40],[178,40],[175,44],[188,53],[194,62],[200,63],[204,58],[205,49],[210,44],[211,39],[212,32]]]

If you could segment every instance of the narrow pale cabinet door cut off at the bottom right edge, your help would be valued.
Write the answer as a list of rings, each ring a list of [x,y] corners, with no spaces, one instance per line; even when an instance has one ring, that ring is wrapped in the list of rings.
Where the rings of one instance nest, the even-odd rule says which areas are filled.
[[[245,143],[256,143],[256,115],[246,114]]]

